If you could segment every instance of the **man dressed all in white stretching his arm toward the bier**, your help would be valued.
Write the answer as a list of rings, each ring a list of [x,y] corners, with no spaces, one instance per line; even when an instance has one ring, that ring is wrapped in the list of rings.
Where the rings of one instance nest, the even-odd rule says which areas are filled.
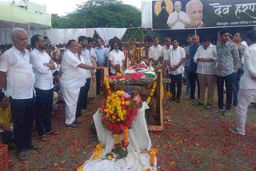
[[[77,128],[75,123],[78,96],[80,88],[84,86],[84,72],[86,70],[99,70],[102,67],[89,66],[81,62],[78,58],[78,42],[70,40],[62,59],[62,78],[60,79],[64,100],[66,102],[66,127]]]

